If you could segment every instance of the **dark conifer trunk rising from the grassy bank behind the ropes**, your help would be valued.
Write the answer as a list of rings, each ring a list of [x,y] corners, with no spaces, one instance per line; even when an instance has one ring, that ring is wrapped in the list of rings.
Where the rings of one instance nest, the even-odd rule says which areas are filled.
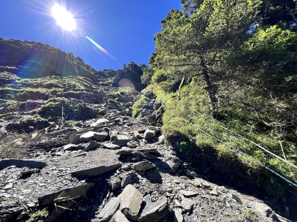
[[[206,87],[204,89],[206,90],[206,93],[208,95],[211,114],[216,119],[222,119],[221,115],[219,114],[219,111],[217,110],[217,104],[218,104],[218,100],[216,97],[217,89],[214,85],[211,84],[209,80],[209,75],[208,75],[207,67],[205,65],[204,60],[200,59],[200,61],[201,61],[201,67],[202,67],[203,80],[206,83]]]

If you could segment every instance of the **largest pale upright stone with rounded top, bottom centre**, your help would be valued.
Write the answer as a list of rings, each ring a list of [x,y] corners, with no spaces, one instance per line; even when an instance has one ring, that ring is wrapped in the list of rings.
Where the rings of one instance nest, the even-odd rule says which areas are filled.
[[[120,210],[128,219],[133,219],[138,216],[143,195],[135,189],[131,184],[128,184],[122,192]]]

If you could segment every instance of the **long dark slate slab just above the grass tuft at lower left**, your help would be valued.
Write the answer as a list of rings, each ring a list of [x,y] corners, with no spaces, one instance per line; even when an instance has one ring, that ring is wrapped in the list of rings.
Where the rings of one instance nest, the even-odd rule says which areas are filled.
[[[53,203],[53,200],[55,200],[59,195],[62,194],[62,196],[67,196],[72,199],[76,199],[78,197],[84,196],[86,192],[94,186],[94,183],[88,183],[88,184],[83,184],[63,190],[59,190],[57,192],[53,192],[50,194],[45,194],[42,197],[38,198],[38,202],[40,206],[47,206]]]

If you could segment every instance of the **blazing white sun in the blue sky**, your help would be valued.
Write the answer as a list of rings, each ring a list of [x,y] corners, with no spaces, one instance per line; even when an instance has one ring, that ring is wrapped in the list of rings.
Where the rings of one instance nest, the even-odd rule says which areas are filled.
[[[53,17],[56,19],[57,24],[65,30],[75,29],[75,20],[72,15],[66,11],[64,7],[56,4],[52,7]]]

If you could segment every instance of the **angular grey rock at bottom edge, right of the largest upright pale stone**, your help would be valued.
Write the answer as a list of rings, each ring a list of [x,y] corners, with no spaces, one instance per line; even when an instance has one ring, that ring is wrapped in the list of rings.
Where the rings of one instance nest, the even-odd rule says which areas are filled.
[[[156,202],[152,203],[149,209],[140,215],[139,221],[157,222],[168,213],[168,201],[165,196],[160,197]]]

